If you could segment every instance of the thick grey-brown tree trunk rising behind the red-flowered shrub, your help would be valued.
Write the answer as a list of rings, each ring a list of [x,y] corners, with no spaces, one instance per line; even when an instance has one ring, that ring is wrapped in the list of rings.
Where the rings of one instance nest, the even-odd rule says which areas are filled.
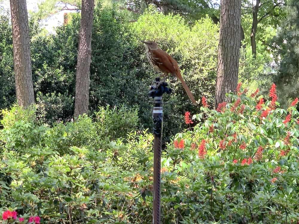
[[[220,30],[215,107],[228,101],[225,93],[234,91],[238,82],[241,1],[222,0],[220,5]]]

